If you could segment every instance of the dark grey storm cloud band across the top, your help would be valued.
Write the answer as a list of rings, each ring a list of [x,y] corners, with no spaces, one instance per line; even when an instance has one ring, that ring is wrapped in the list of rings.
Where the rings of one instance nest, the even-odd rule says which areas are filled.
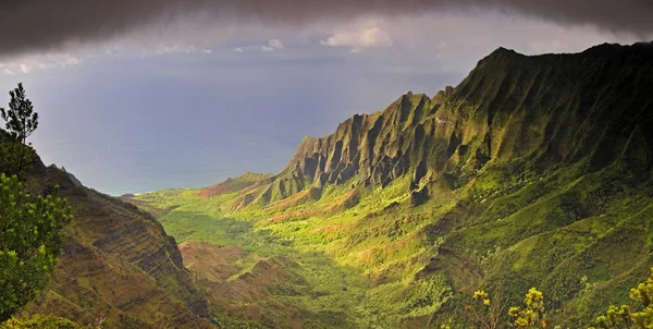
[[[57,50],[201,15],[211,24],[304,26],[364,14],[496,10],[559,24],[648,35],[651,0],[2,0],[0,57]],[[204,22],[204,21],[202,21]],[[455,32],[452,32],[455,33]]]

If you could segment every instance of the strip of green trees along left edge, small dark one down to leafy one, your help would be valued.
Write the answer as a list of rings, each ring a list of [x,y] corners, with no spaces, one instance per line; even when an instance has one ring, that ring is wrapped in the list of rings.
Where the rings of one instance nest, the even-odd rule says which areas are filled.
[[[21,84],[10,94],[11,109],[1,113],[11,134],[0,131],[0,322],[46,288],[61,253],[62,229],[71,220],[71,208],[57,191],[33,195],[19,179],[35,159],[24,144],[38,115]]]

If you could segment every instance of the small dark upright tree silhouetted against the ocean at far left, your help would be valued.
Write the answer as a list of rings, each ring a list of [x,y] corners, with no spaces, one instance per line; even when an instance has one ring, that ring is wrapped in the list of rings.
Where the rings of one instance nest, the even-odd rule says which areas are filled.
[[[9,92],[9,95],[11,96],[9,110],[0,108],[0,114],[7,122],[5,127],[9,133],[26,145],[27,137],[38,127],[38,113],[34,111],[32,100],[25,95],[23,83],[19,83],[19,87]]]

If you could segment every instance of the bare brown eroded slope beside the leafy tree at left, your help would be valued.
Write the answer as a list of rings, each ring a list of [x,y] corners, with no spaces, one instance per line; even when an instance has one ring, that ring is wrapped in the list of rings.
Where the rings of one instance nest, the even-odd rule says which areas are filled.
[[[49,288],[27,313],[110,328],[211,328],[173,237],[149,214],[37,161],[29,184],[69,199],[74,219]]]

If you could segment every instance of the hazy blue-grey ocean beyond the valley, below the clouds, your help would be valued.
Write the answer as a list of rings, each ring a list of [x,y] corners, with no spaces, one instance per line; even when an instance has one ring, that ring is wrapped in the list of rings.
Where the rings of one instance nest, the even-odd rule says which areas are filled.
[[[275,173],[304,136],[330,134],[350,115],[383,110],[409,89],[432,96],[461,78],[361,74],[326,60],[198,63],[184,71],[152,61],[22,76],[40,115],[30,142],[44,162],[110,195],[202,187],[246,171]],[[0,88],[14,86],[12,77],[0,81]]]

